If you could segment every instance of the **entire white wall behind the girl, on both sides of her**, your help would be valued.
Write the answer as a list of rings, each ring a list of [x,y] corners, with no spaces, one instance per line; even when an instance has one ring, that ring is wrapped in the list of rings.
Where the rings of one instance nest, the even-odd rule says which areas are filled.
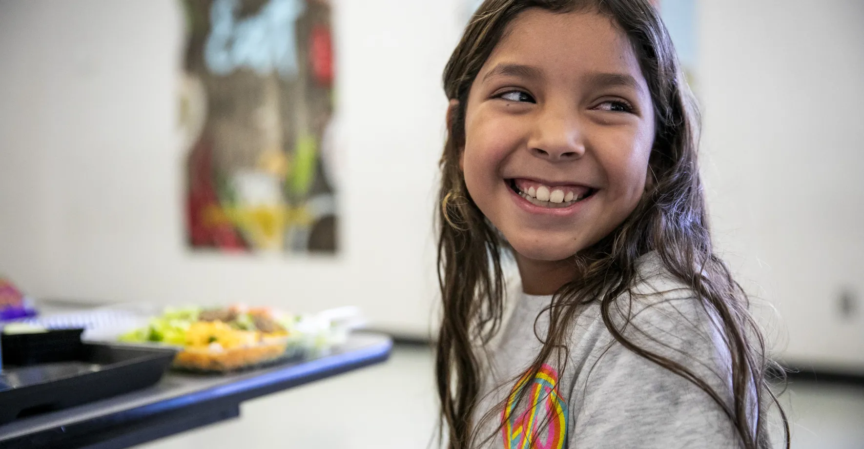
[[[460,0],[336,2],[347,123],[337,258],[185,249],[173,0],[0,3],[0,271],[37,296],[359,304],[422,334]],[[699,93],[716,237],[778,307],[785,357],[864,370],[864,6],[702,0]],[[861,307],[861,306],[860,306]],[[784,327],[785,326],[785,327]]]

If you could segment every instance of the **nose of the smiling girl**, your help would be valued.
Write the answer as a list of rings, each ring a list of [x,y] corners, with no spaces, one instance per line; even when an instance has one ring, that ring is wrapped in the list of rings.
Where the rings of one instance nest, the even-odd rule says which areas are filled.
[[[532,155],[549,161],[570,161],[585,155],[578,120],[571,115],[544,114],[528,142]]]

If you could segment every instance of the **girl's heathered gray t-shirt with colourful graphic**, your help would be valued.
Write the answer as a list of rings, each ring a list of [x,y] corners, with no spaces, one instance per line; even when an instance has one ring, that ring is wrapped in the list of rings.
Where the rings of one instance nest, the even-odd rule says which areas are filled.
[[[639,273],[641,281],[634,294],[619,298],[611,307],[613,320],[629,317],[626,336],[693,370],[731,404],[731,361],[713,314],[662,268],[656,255],[640,259]],[[543,313],[543,308],[551,298],[522,294],[497,346],[491,348],[474,422],[491,411],[491,419],[480,421],[483,430],[478,435],[480,440],[492,435],[492,440],[475,440],[476,446],[739,446],[734,427],[720,406],[693,383],[616,342],[596,302],[579,315],[566,356],[562,352],[561,357],[551,357],[534,382],[520,379],[542,346],[538,336],[544,338],[549,323],[549,313]],[[520,389],[527,389],[527,403],[513,401]],[[497,407],[505,399],[505,407]],[[529,443],[532,439],[537,439],[537,446]]]

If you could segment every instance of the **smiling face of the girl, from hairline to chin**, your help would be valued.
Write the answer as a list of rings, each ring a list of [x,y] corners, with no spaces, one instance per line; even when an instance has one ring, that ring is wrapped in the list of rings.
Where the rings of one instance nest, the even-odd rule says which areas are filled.
[[[530,9],[508,30],[471,86],[461,167],[524,277],[525,265],[542,273],[633,211],[654,113],[630,42],[609,18]]]

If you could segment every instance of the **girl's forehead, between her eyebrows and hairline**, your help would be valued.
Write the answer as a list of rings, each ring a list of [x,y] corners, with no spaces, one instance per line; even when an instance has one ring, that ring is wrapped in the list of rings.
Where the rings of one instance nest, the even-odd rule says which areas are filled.
[[[550,75],[589,71],[641,78],[626,34],[610,17],[596,12],[523,12],[509,24],[480,75],[502,61],[536,66]]]

